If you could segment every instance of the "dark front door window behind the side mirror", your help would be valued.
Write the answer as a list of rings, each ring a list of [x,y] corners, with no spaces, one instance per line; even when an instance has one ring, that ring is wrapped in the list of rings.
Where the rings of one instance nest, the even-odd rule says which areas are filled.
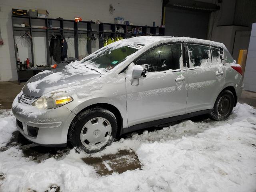
[[[155,72],[180,69],[182,62],[182,45],[170,44],[144,54],[135,64],[141,65],[148,72]]]

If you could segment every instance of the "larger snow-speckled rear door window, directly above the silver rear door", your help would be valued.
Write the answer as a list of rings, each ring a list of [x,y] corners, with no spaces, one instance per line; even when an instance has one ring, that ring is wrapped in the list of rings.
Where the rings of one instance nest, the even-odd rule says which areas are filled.
[[[188,44],[190,68],[208,67],[211,65],[210,46]]]

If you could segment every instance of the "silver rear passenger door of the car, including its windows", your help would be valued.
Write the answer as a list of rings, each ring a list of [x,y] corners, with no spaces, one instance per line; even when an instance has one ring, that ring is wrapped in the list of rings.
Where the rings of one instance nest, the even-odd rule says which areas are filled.
[[[220,48],[187,43],[188,100],[186,113],[211,109],[225,83]]]

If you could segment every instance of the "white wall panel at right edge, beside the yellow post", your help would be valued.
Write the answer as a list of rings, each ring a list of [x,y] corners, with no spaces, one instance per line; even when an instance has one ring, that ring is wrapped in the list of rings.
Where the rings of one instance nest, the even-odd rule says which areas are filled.
[[[256,92],[256,23],[252,24],[252,32],[244,72],[244,89]]]

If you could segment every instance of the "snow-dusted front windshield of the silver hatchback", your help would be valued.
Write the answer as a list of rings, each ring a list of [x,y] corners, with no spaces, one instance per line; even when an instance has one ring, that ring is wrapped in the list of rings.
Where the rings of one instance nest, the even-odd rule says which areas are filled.
[[[129,44],[126,46],[110,47],[88,56],[81,61],[88,68],[98,68],[100,71],[109,71],[131,54],[134,54],[144,44]]]

